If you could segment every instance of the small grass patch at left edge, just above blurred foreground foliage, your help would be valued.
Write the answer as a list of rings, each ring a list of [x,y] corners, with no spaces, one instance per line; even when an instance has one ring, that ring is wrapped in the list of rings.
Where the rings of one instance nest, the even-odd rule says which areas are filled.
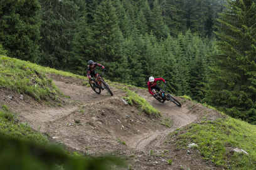
[[[27,123],[16,123],[17,116],[9,111],[8,106],[3,105],[0,109],[0,134],[8,138],[35,141],[39,144],[48,143],[46,136],[33,131]]]

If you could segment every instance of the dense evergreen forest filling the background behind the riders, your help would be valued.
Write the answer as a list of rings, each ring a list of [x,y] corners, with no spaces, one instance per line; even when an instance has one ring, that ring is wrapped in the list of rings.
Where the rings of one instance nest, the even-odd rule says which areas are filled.
[[[255,14],[248,0],[4,0],[0,53],[80,75],[92,59],[144,88],[161,77],[256,124]]]

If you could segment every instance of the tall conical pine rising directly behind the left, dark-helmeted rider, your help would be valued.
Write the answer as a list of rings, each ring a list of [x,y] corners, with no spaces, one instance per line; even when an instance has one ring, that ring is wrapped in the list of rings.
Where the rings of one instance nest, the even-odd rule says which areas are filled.
[[[93,61],[106,66],[110,80],[127,83],[130,76],[124,51],[124,37],[110,0],[104,0],[98,6],[94,21]]]

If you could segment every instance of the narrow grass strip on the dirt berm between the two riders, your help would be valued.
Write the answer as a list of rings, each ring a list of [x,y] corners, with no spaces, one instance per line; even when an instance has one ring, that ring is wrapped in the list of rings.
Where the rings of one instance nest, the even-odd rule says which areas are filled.
[[[136,106],[139,110],[151,116],[162,116],[162,113],[160,111],[157,111],[157,109],[153,108],[146,99],[139,97],[136,93],[134,93],[134,91],[131,91],[124,86],[117,86],[115,84],[110,85],[122,89],[126,92],[127,97],[125,97],[124,99],[127,101],[128,104],[132,105],[133,103],[136,103]]]

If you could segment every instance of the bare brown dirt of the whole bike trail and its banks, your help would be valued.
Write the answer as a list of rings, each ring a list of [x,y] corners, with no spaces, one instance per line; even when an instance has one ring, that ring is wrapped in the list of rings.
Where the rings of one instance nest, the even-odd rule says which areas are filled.
[[[200,123],[202,118],[214,121],[223,117],[217,111],[179,97],[175,98],[181,107],[170,101],[159,103],[145,89],[127,87],[163,114],[149,116],[136,104],[127,104],[122,98],[125,91],[111,83],[114,96],[106,90],[96,94],[84,86],[84,79],[47,75],[65,95],[59,101],[36,101],[26,94],[1,89],[0,104],[7,104],[19,121],[48,136],[52,143],[87,156],[117,154],[127,159],[126,169],[222,169],[206,164],[196,149],[178,148],[175,138],[169,136],[177,128]]]

